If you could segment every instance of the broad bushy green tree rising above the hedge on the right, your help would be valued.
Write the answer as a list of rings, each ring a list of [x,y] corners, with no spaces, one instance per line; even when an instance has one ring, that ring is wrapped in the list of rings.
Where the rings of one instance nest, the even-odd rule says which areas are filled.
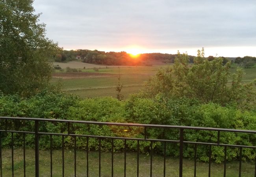
[[[235,104],[239,109],[255,109],[256,92],[253,83],[242,84],[243,71],[231,75],[230,61],[223,65],[223,58],[209,61],[204,57],[204,49],[198,50],[194,64],[188,66],[186,53],[178,52],[173,67],[158,71],[141,93],[142,97],[152,98],[163,93],[168,98],[196,98],[202,103]],[[228,80],[232,84],[228,86]]]

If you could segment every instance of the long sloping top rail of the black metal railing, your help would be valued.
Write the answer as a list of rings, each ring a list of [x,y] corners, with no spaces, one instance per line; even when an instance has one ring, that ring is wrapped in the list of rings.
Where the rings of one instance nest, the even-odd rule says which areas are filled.
[[[69,122],[69,123],[76,123],[76,124],[119,125],[119,126],[130,126],[130,127],[193,129],[193,130],[226,131],[226,132],[256,134],[255,130],[223,129],[223,128],[212,128],[212,127],[192,127],[192,126],[180,126],[180,125],[133,124],[133,123],[117,123],[117,122],[96,122],[96,121],[84,121],[84,120],[65,120],[65,119],[48,119],[48,118],[26,118],[26,117],[4,117],[4,116],[0,116],[0,119],[30,120],[30,121],[37,120],[37,121],[44,121],[44,122],[62,122],[62,123],[68,123]]]

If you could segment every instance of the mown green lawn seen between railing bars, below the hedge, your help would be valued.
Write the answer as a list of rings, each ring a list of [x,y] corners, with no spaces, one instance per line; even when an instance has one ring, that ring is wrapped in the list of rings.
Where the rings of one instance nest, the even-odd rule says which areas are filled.
[[[61,150],[53,151],[53,176],[62,176],[62,154]],[[89,152],[89,176],[98,176],[98,152]],[[77,151],[76,155],[76,168],[77,176],[86,176],[86,152]],[[40,164],[40,177],[50,176],[50,151],[39,152],[39,164]],[[74,151],[65,149],[65,176],[74,176]],[[3,164],[3,176],[11,176],[11,150],[2,149],[2,164]],[[211,164],[211,176],[221,177],[223,176],[223,164]],[[126,157],[126,176],[135,177],[137,175],[137,154],[127,153]],[[33,149],[26,149],[26,175],[34,176],[35,160]],[[228,162],[226,164],[226,176],[238,177],[239,162]],[[179,159],[173,157],[166,158],[166,176],[177,177],[179,172]],[[152,173],[154,177],[163,176],[163,157],[160,155],[153,155],[152,160]],[[183,160],[183,176],[191,177],[194,173],[193,160]],[[148,177],[150,175],[150,156],[140,154],[139,155],[139,176]],[[14,176],[23,177],[23,149],[14,150]],[[111,153],[101,153],[101,176],[111,176]],[[124,176],[124,154],[114,153],[114,176]],[[197,162],[197,177],[208,176],[208,163]],[[242,163],[242,173],[244,177],[254,177],[254,164],[249,162]]]

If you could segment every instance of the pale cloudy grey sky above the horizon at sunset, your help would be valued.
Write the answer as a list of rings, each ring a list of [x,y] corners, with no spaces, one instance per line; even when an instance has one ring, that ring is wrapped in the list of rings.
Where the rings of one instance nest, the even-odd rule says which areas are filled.
[[[256,57],[256,0],[34,0],[65,50]]]

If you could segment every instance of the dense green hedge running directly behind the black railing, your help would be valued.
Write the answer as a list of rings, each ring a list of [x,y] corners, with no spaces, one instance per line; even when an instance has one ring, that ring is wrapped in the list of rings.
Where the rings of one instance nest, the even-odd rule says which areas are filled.
[[[134,95],[126,101],[119,101],[111,97],[88,98],[79,100],[72,95],[59,92],[45,91],[32,98],[21,98],[18,95],[0,96],[0,114],[2,116],[22,116],[37,118],[58,118],[69,120],[86,120],[98,122],[128,122],[142,124],[163,124],[163,125],[185,125],[200,127],[218,127],[230,129],[256,130],[255,112],[240,111],[234,107],[222,107],[217,103],[201,104],[200,101],[190,98],[169,99],[164,94],[158,94],[154,98],[139,98]],[[5,126],[0,122],[0,127]],[[8,122],[8,129],[33,131],[33,122]],[[124,131],[125,130],[125,131]],[[40,123],[40,131],[67,133],[67,124],[61,123]],[[70,133],[101,136],[122,136],[144,138],[144,129],[140,127],[117,127],[108,125],[85,125],[71,124]],[[2,146],[10,145],[11,137],[2,134]],[[15,146],[22,146],[22,135],[14,134]],[[178,129],[148,128],[148,138],[178,140]],[[34,136],[26,136],[26,146],[34,146]],[[54,148],[61,147],[61,136],[53,136]],[[213,142],[217,141],[217,132],[207,131],[184,131],[186,141]],[[40,136],[40,147],[49,148],[50,139],[48,136]],[[73,147],[72,137],[65,137],[67,147]],[[220,142],[225,144],[241,144],[255,146],[256,136],[236,133],[221,133]],[[128,141],[128,150],[136,151],[137,142]],[[163,144],[153,143],[156,153],[163,153]],[[77,138],[77,148],[85,149],[86,141]],[[98,140],[89,138],[89,148],[98,149]],[[115,151],[122,151],[124,144],[122,140],[115,141]],[[102,151],[111,150],[111,141],[102,139]],[[150,142],[140,142],[140,151],[148,153]],[[179,148],[177,144],[167,144],[167,155],[178,157]],[[222,162],[224,149],[212,147],[212,159],[215,162]],[[193,158],[193,146],[184,144],[184,157]],[[228,149],[227,159],[234,160],[239,157],[239,151]],[[246,149],[243,151],[243,158],[253,160],[255,152]],[[208,160],[208,147],[198,146],[198,159]]]

